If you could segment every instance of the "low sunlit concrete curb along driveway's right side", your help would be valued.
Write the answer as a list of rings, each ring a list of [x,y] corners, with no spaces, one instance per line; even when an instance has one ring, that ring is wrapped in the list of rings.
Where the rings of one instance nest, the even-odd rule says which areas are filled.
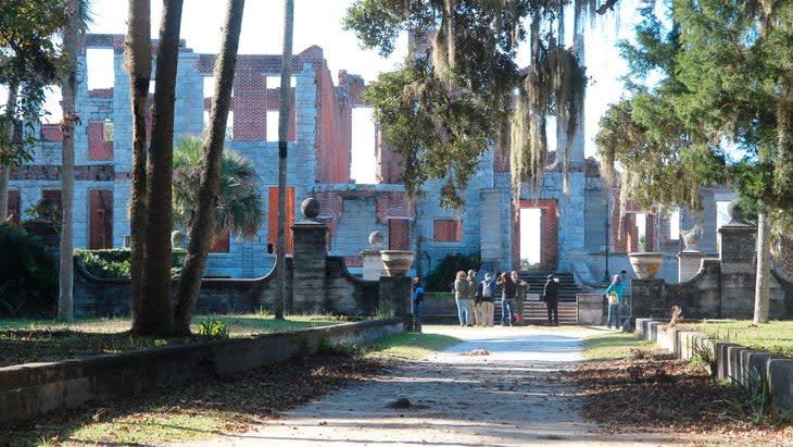
[[[709,338],[696,332],[667,330],[650,319],[637,319],[635,332],[683,360],[705,353],[710,361],[710,373],[719,378],[731,380],[742,386],[751,386],[758,378],[764,378],[769,385],[773,408],[780,411],[793,409],[793,359]]]

